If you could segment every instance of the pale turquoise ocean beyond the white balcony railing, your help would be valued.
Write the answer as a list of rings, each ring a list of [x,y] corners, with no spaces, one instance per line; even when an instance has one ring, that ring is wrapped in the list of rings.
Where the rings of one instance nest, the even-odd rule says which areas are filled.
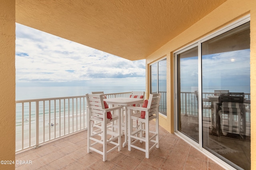
[[[113,86],[113,87],[86,87],[86,86],[53,86],[53,87],[16,87],[16,101],[17,100],[33,100],[33,99],[42,99],[42,98],[61,98],[61,97],[71,97],[71,96],[84,96],[87,93],[96,92],[96,91],[103,91],[105,94],[109,93],[121,93],[121,92],[132,92],[132,91],[146,91],[145,86],[144,87],[136,87],[136,86]],[[74,100],[74,103],[72,103],[72,100],[70,100],[70,109],[71,107],[77,107],[80,108],[80,100],[83,103],[83,99],[77,99]],[[57,118],[59,115],[59,111],[61,113],[66,110],[68,112],[68,100],[66,100],[66,106],[64,108],[64,100],[56,100],[56,110],[54,110],[54,101],[51,101],[50,103],[50,113],[51,113],[51,119],[54,117],[54,113],[57,115]],[[60,107],[60,108],[59,108]],[[83,107],[83,106],[82,106]],[[24,103],[24,124],[28,124],[28,120],[30,122],[35,122],[35,108],[36,104],[35,102]],[[82,108],[83,110],[84,108]],[[86,108],[85,108],[86,109]],[[31,115],[29,115],[29,110],[31,110]],[[76,108],[74,108],[76,111]],[[63,114],[63,113],[62,113]],[[75,113],[76,114],[76,113]],[[80,114],[80,113],[78,113]],[[55,115],[55,116],[56,116]],[[45,116],[46,118],[43,118]],[[67,115],[62,115],[67,116]],[[46,120],[48,121],[49,117],[49,103],[45,102],[45,107],[43,107],[42,103],[39,105],[39,121]],[[16,104],[16,126],[22,125],[22,104]]]

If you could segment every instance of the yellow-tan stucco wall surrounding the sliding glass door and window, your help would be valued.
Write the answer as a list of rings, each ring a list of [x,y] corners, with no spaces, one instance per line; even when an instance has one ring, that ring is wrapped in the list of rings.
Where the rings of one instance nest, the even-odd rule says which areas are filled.
[[[157,59],[165,55],[170,55],[170,67],[167,64],[167,80],[171,82],[167,83],[167,89],[170,92],[167,93],[167,116],[168,118],[160,117],[160,125],[166,130],[173,133],[174,131],[174,95],[173,95],[173,72],[174,63],[172,52],[176,51],[188,45],[196,40],[232,23],[243,16],[250,14],[250,64],[251,64],[251,168],[256,169],[256,1],[255,0],[228,0],[224,2],[221,6],[216,8],[213,12],[199,20],[197,23],[192,25],[190,28],[186,29],[183,33],[166,43],[155,53],[147,57],[146,64],[149,70],[149,64],[154,63]],[[147,75],[149,76],[149,74]],[[149,90],[149,80],[147,91]]]

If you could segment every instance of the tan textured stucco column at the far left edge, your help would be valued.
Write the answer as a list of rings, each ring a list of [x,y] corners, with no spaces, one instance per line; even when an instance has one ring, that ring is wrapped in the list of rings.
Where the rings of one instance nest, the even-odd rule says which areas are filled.
[[[15,162],[15,0],[0,4],[0,160]]]

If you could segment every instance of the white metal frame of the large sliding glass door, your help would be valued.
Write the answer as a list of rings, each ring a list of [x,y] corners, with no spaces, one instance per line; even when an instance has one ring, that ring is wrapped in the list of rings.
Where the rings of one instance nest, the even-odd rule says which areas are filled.
[[[231,166],[224,160],[218,158],[208,150],[203,148],[203,135],[202,135],[202,43],[204,41],[207,41],[209,39],[212,39],[213,37],[216,37],[222,33],[225,33],[227,31],[230,31],[233,28],[236,28],[246,22],[250,21],[250,14],[246,15],[230,24],[227,26],[211,33],[210,35],[206,35],[201,39],[198,39],[196,42],[191,43],[182,49],[178,49],[177,51],[173,52],[174,57],[174,133],[178,136],[180,136],[183,140],[188,142],[190,145],[196,147],[198,150],[202,151],[204,154],[209,156],[212,160],[215,160],[217,162],[221,162],[224,166],[226,166],[229,169],[234,169],[236,165]],[[189,49],[192,49],[193,47],[198,46],[198,123],[199,123],[199,143],[195,142],[194,140],[190,139],[190,137],[184,135],[180,131],[178,131],[178,54],[185,52]],[[221,157],[221,156],[220,156]]]

